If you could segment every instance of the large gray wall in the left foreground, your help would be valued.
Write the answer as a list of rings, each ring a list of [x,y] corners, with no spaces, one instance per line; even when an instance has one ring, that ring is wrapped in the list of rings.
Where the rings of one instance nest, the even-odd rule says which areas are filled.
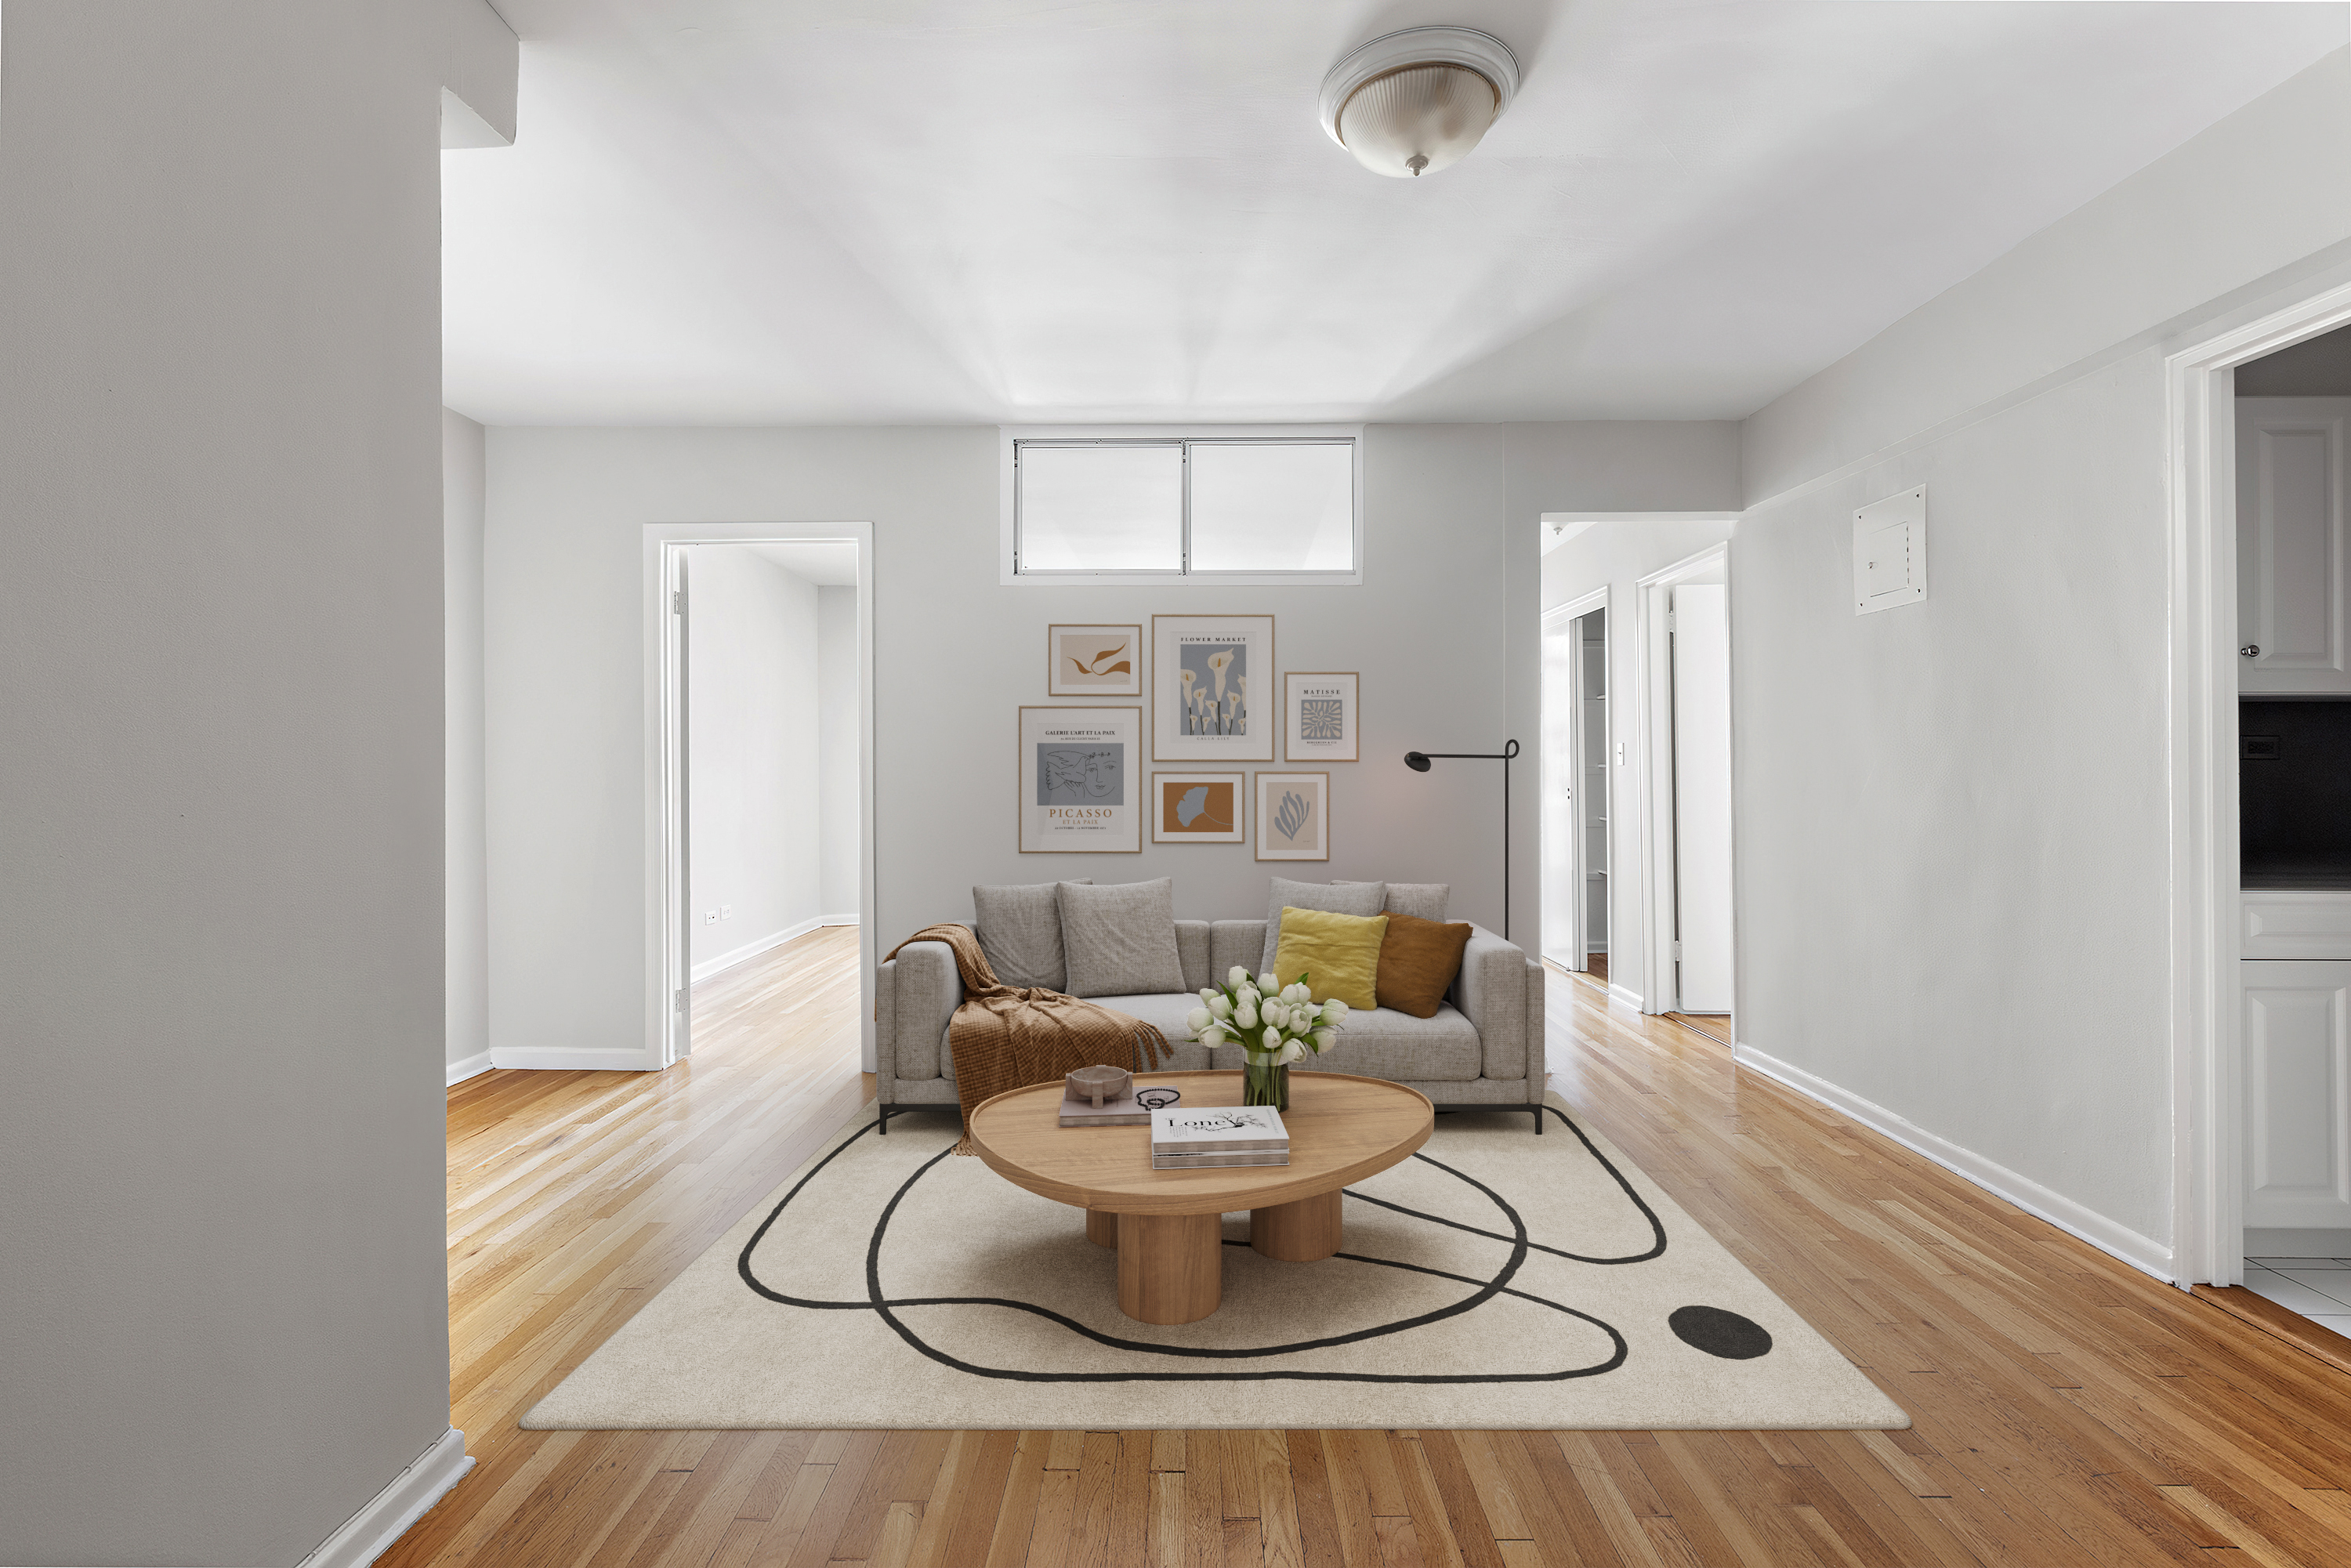
[[[447,19],[7,5],[0,1561],[296,1563],[449,1427]]]

